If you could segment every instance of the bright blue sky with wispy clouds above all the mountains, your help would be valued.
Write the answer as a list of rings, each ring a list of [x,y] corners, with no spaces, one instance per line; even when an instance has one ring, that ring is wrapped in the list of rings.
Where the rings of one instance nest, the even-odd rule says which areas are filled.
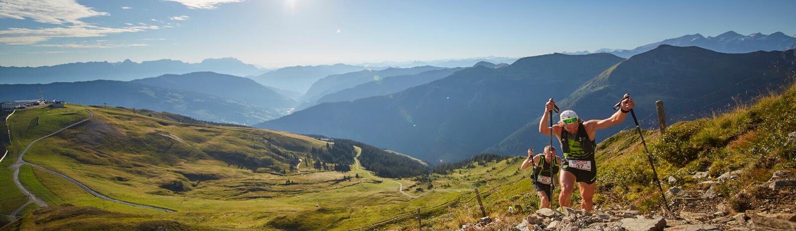
[[[0,65],[523,57],[728,30],[794,35],[794,9],[796,1],[0,0]]]

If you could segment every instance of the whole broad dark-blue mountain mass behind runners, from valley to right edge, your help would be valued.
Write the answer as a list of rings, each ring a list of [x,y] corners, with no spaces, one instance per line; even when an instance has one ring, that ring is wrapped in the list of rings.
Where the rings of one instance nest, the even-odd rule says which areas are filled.
[[[663,100],[667,117],[679,121],[721,110],[733,97],[751,98],[784,85],[794,75],[794,54],[661,45],[628,60],[611,54],[533,56],[508,67],[456,71],[387,96],[319,104],[256,126],[353,138],[422,160],[462,160],[479,152],[517,155],[548,142],[537,132],[548,98],[560,99],[562,110],[602,119],[630,93],[639,119]],[[596,138],[602,141],[626,125],[632,121]]]

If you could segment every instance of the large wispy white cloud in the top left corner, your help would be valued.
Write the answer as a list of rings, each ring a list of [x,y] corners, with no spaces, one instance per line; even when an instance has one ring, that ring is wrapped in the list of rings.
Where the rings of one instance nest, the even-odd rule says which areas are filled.
[[[32,19],[47,24],[58,25],[53,28],[10,28],[0,30],[0,44],[37,44],[56,37],[105,37],[116,33],[141,32],[159,29],[155,25],[111,28],[90,25],[80,21],[84,17],[104,16],[109,13],[98,12],[80,5],[75,0],[4,0],[0,2],[0,18]]]

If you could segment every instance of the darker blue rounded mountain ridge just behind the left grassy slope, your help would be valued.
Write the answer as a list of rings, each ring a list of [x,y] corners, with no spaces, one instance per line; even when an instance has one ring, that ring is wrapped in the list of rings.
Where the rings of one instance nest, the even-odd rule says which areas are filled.
[[[252,125],[287,114],[295,104],[252,79],[213,72],[162,75],[129,82],[0,84],[0,102],[39,98],[184,114],[204,121]]]

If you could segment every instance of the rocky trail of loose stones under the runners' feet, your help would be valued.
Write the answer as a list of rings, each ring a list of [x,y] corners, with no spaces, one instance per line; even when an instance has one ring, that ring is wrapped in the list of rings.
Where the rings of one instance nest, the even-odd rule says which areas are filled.
[[[502,227],[505,222],[482,218],[458,230],[796,230],[796,173],[793,171],[776,171],[768,182],[751,184],[727,200],[716,197],[715,190],[721,183],[741,177],[741,171],[731,171],[716,179],[710,179],[703,172],[697,172],[694,177],[704,181],[691,189],[672,187],[667,192],[674,197],[670,203],[673,213],[642,214],[634,206],[624,209],[596,207],[591,213],[564,207],[537,210],[513,227]]]

